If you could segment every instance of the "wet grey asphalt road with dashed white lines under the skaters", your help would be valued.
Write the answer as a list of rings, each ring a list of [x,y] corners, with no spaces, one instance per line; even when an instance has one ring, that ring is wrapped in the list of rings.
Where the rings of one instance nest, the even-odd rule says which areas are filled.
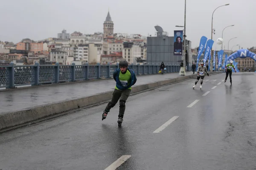
[[[2,133],[0,169],[105,170],[130,155],[117,170],[255,170],[256,75],[224,76],[130,96],[121,128],[118,105],[101,120],[104,104]]]

